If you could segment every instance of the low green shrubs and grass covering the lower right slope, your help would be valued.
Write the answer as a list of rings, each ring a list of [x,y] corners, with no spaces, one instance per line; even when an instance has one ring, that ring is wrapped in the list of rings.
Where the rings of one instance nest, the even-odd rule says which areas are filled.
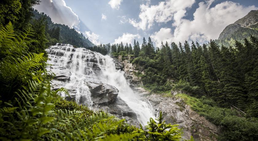
[[[219,140],[256,140],[258,138],[258,119],[245,118],[244,114],[232,108],[221,108],[215,101],[205,96],[191,97],[186,94],[177,94],[191,109],[207,120],[220,126]]]

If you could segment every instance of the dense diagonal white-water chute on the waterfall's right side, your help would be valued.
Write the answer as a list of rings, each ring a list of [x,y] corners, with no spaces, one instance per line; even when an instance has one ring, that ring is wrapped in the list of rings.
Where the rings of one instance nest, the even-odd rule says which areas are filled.
[[[154,118],[152,106],[149,103],[140,100],[141,97],[131,89],[126,81],[124,72],[115,69],[113,59],[107,55],[103,57],[105,58],[105,69],[100,76],[100,81],[115,86],[119,90],[119,96],[137,114],[139,122],[146,125],[150,117]]]

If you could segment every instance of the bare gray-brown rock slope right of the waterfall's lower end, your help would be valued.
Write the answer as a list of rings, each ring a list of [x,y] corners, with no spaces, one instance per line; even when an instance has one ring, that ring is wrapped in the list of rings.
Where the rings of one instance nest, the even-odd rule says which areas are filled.
[[[135,90],[147,97],[156,117],[159,116],[159,112],[162,112],[166,123],[179,124],[179,128],[182,128],[184,132],[184,139],[190,139],[193,136],[196,141],[217,140],[216,136],[221,128],[191,110],[190,106],[186,105],[181,98],[151,94],[140,87],[135,88]],[[176,95],[178,92],[173,93]]]

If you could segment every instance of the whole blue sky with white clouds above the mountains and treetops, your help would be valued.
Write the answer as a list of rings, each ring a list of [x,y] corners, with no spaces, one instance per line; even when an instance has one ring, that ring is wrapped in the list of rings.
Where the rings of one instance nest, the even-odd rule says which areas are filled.
[[[94,44],[139,40],[207,42],[229,24],[258,10],[257,0],[43,0],[35,9]]]

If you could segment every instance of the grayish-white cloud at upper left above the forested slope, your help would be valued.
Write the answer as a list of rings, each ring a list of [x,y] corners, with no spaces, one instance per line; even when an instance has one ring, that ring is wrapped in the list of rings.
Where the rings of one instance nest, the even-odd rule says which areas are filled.
[[[49,15],[53,22],[68,25],[70,28],[79,29],[80,20],[72,9],[66,6],[64,0],[43,0],[34,7],[39,12]]]

